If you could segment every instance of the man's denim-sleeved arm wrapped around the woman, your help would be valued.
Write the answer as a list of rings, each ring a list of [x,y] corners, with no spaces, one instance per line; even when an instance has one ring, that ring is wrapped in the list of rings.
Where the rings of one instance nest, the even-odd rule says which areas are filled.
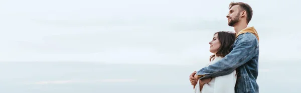
[[[230,74],[255,55],[256,39],[253,34],[242,34],[237,38],[237,44],[229,54],[216,63],[200,69],[197,71],[197,75],[201,78],[208,78]]]

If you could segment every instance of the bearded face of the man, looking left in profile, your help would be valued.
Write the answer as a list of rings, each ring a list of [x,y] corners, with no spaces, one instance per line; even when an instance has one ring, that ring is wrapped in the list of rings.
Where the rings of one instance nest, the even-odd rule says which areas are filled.
[[[234,26],[240,19],[240,10],[239,10],[239,5],[233,5],[229,13],[227,15],[228,18],[228,25],[229,26]]]

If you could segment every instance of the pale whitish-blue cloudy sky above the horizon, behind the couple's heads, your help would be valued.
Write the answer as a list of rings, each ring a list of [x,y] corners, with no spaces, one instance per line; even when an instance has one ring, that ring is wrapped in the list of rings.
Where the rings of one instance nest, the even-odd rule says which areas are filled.
[[[0,61],[207,62],[232,0],[1,0]],[[237,0],[234,0],[237,1]],[[253,8],[260,62],[301,60],[299,0]]]

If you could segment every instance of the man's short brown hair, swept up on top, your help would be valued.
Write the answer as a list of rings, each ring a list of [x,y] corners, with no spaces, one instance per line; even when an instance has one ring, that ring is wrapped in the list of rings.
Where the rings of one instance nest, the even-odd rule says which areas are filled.
[[[229,4],[229,9],[234,5],[239,5],[240,11],[245,10],[247,12],[247,23],[249,23],[250,20],[252,19],[252,15],[253,15],[253,10],[252,10],[251,6],[244,2],[231,2]]]

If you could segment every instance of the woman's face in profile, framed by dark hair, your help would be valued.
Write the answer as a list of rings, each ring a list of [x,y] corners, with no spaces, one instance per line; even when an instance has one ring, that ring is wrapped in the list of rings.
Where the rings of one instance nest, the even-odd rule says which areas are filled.
[[[220,43],[220,41],[218,40],[217,37],[218,37],[218,33],[216,33],[213,36],[212,40],[209,42],[209,44],[210,44],[209,51],[214,53],[214,54],[217,52],[218,48],[221,46],[221,43]]]

